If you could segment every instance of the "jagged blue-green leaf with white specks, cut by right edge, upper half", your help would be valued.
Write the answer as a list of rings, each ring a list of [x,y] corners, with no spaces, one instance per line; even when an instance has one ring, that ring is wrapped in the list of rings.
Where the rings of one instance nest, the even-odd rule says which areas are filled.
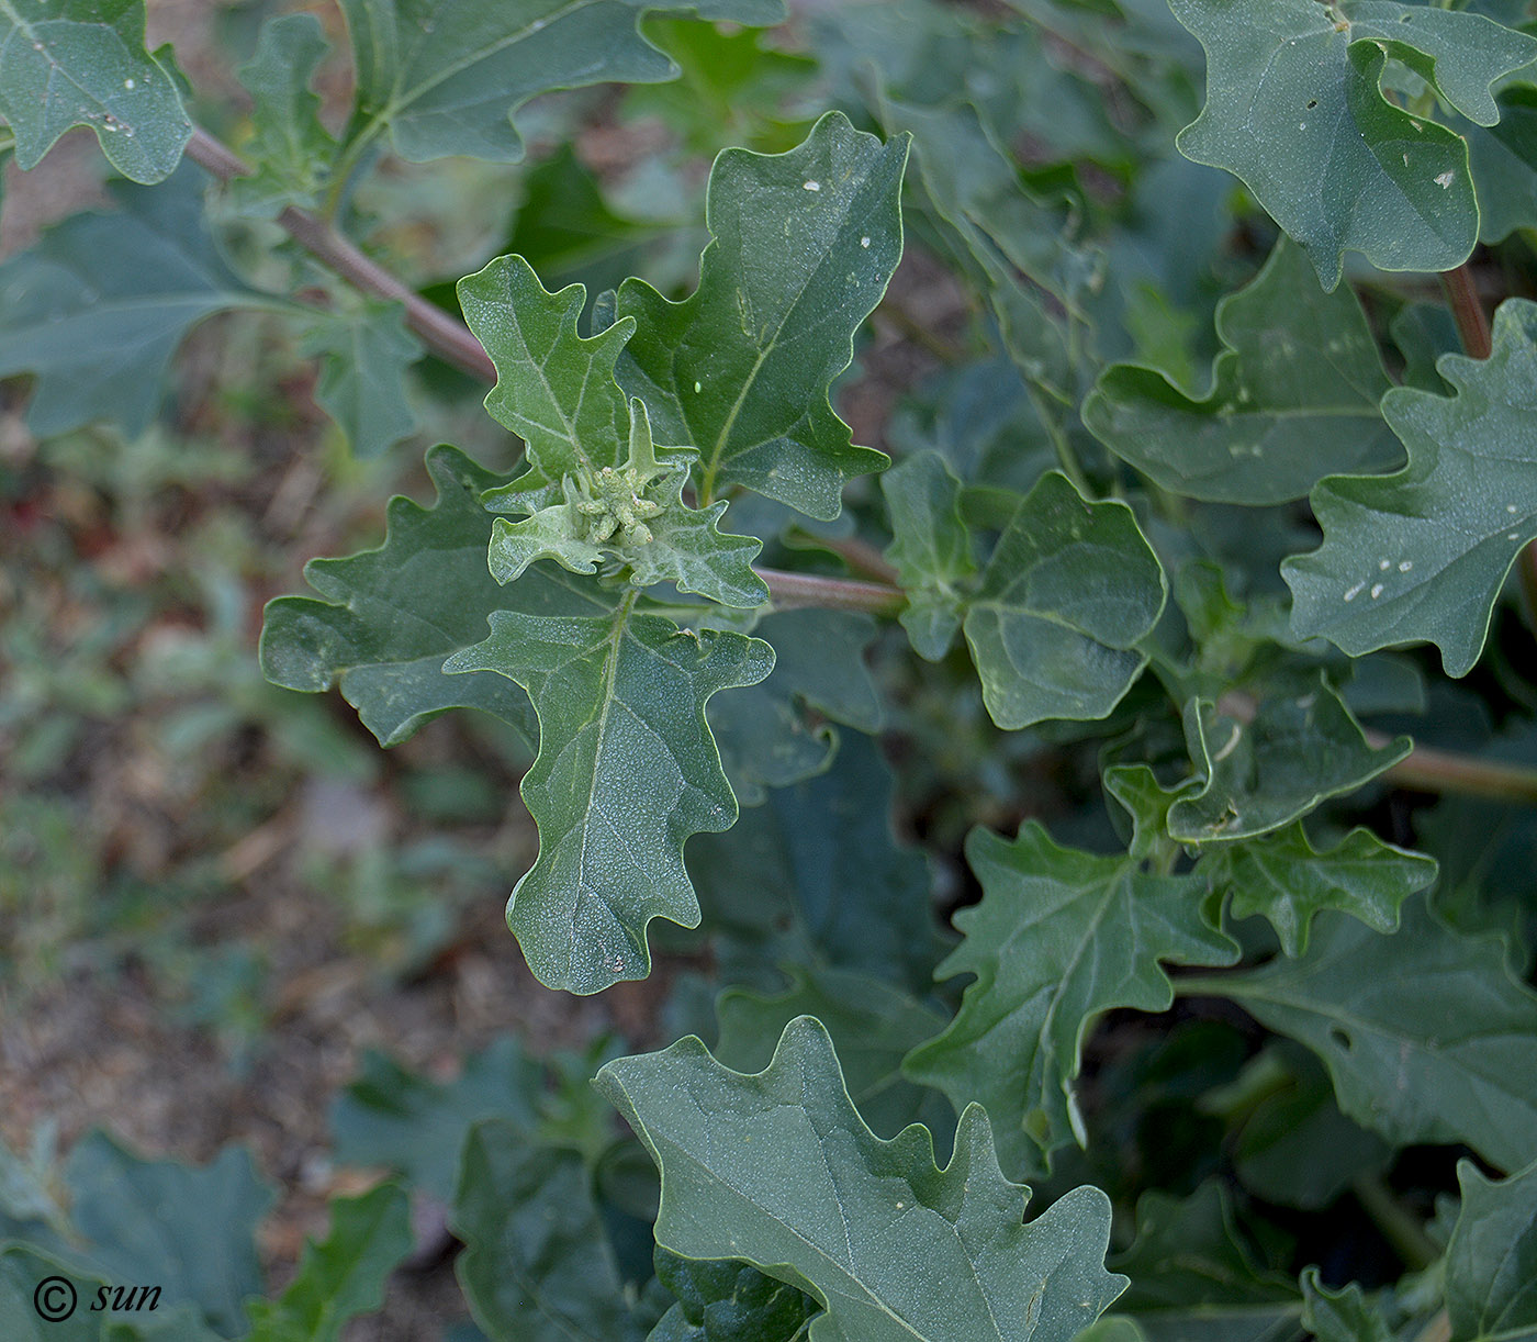
[[[1323,544],[1282,566],[1296,598],[1293,627],[1351,656],[1396,643],[1434,643],[1446,675],[1483,650],[1494,601],[1537,536],[1537,303],[1494,314],[1494,354],[1445,355],[1456,389],[1437,397],[1394,387],[1382,403],[1409,449],[1396,475],[1337,475],[1313,490]]]

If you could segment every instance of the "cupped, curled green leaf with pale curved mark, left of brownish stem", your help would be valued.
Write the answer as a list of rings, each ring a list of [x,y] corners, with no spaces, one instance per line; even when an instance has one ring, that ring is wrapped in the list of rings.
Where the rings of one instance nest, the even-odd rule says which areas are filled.
[[[1227,699],[1185,706],[1185,741],[1205,782],[1170,806],[1171,838],[1208,844],[1270,833],[1325,798],[1354,792],[1413,749],[1408,736],[1373,747],[1322,672],[1274,689],[1253,716]]]

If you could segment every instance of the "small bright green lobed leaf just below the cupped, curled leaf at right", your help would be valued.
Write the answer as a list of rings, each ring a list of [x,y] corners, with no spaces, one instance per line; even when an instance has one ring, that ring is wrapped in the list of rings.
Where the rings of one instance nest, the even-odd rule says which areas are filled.
[[[1280,948],[1297,956],[1308,948],[1313,916],[1325,909],[1393,932],[1399,905],[1436,879],[1436,859],[1385,844],[1366,829],[1319,852],[1297,821],[1259,839],[1208,849],[1200,875],[1231,892],[1234,918],[1270,919]]]

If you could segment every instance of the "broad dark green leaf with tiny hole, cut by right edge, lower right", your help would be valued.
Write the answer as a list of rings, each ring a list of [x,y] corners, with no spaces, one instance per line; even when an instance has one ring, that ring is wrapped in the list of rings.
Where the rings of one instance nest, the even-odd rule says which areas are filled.
[[[1537,1144],[1537,996],[1492,938],[1405,905],[1393,936],[1322,913],[1297,959],[1180,984],[1306,1044],[1340,1108],[1399,1145],[1466,1142],[1505,1170]]]

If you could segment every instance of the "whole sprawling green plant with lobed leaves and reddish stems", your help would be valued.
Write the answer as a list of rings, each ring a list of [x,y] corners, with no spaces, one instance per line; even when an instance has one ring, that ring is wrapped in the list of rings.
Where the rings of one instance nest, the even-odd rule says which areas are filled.
[[[669,965],[659,1051],[343,1101],[338,1154],[449,1142],[480,1330],[1537,1337],[1531,6],[310,8],[215,138],[143,5],[0,0],[0,152],[89,126],[124,178],[0,267],[0,374],[37,437],[140,433],[243,311],[358,457],[490,384],[516,443],[430,447],[261,633],[383,746],[527,744],[550,990]],[[564,144],[647,117],[719,149],[679,223]],[[461,158],[543,241],[418,292],[392,172]],[[884,450],[839,386],[887,387]],[[115,1262],[126,1159],[71,1167],[74,1234],[0,1196],[14,1319]],[[249,1307],[180,1245],[177,1336],[335,1336],[407,1196],[335,1217]]]

